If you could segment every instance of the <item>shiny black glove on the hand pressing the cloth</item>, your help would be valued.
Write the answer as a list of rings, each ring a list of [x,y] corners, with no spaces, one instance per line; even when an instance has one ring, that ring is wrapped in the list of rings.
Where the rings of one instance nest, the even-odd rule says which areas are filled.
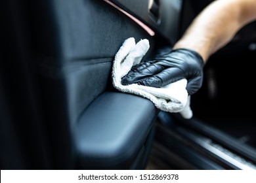
[[[137,83],[161,88],[186,78],[188,95],[196,93],[203,82],[203,59],[197,52],[180,48],[158,54],[154,59],[144,61],[131,68],[121,84]]]

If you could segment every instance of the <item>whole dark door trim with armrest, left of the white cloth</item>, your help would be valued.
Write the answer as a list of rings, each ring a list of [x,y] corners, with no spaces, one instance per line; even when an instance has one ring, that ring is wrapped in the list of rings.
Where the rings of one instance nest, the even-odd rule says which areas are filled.
[[[149,39],[147,57],[154,37],[101,0],[4,2],[1,168],[143,169],[158,110],[111,71],[125,39]]]

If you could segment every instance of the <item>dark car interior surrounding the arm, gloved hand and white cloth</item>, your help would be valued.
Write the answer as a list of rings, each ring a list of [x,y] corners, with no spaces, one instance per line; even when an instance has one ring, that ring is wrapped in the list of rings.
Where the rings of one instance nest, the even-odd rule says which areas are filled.
[[[125,39],[150,58],[209,3],[1,1],[1,169],[256,169],[256,22],[209,58],[191,119],[112,86]]]

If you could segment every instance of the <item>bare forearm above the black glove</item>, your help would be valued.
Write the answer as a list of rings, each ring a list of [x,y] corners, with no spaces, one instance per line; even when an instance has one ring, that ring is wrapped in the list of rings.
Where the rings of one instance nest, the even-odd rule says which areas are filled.
[[[173,49],[194,50],[206,63],[211,54],[253,20],[256,20],[256,0],[213,1],[194,19]]]

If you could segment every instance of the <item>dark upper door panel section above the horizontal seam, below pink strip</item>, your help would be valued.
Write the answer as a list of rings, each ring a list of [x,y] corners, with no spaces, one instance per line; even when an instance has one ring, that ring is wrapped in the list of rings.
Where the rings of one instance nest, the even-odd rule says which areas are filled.
[[[150,39],[154,47],[154,37],[103,0],[45,0],[30,6],[33,49],[43,63],[112,58],[129,37]]]

